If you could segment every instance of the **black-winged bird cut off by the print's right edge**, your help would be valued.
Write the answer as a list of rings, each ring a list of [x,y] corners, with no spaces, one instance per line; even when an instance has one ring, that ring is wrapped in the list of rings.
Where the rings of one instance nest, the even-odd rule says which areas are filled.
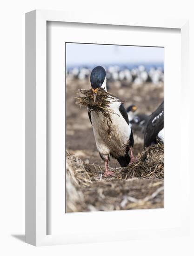
[[[155,144],[157,139],[164,142],[164,101],[150,115],[144,134],[144,147]]]

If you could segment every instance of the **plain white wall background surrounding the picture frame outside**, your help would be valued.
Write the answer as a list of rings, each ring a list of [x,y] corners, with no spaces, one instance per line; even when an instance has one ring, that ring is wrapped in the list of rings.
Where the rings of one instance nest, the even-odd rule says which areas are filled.
[[[24,240],[25,233],[25,13],[33,9],[53,9],[77,10],[87,15],[88,12],[94,11],[94,7],[99,15],[103,10],[107,12],[107,15],[109,12],[114,12],[117,16],[138,15],[141,17],[145,15],[153,19],[157,16],[190,19],[190,103],[191,110],[194,110],[194,8],[192,0],[1,1],[0,255],[194,255],[192,246],[194,237],[172,238],[170,241],[144,240],[44,248],[35,248],[21,241]],[[194,118],[192,111],[190,115],[191,119]],[[192,124],[194,123],[190,123],[191,130],[194,129]],[[191,138],[191,140],[193,140],[190,147],[192,156],[194,139]],[[194,180],[192,170],[191,176]],[[194,192],[192,183],[191,179],[191,189]],[[193,201],[193,196],[191,200]],[[192,227],[194,228],[194,225]],[[193,231],[191,233],[194,234]]]

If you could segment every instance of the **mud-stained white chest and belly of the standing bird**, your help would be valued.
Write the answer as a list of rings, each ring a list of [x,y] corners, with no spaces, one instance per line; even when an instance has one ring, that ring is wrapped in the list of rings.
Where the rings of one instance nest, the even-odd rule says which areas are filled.
[[[115,157],[125,155],[131,128],[120,114],[120,102],[112,102],[110,109],[112,123],[101,112],[91,112],[92,126],[96,146],[101,154],[112,154]]]

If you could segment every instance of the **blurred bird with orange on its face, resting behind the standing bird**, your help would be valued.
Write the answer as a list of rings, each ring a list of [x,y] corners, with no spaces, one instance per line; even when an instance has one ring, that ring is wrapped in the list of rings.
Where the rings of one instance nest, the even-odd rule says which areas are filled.
[[[135,105],[130,105],[126,110],[129,118],[129,124],[131,126],[133,126],[133,124],[137,124],[140,127],[145,127],[147,125],[149,115],[135,114],[137,110],[137,107]]]

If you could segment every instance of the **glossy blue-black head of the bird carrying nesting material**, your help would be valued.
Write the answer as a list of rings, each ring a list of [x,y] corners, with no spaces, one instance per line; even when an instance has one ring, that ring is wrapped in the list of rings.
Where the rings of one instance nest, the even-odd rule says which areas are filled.
[[[100,88],[103,82],[105,81],[105,78],[106,78],[106,71],[104,67],[101,67],[101,66],[94,67],[90,75],[91,87],[94,90],[97,88]],[[106,86],[104,88],[106,88]]]

